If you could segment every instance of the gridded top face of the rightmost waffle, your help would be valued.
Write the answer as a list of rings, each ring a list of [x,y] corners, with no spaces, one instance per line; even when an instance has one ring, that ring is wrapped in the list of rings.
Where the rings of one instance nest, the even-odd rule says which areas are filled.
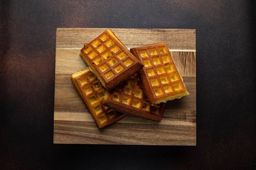
[[[141,47],[137,52],[156,98],[175,95],[186,90],[167,45],[154,44],[150,48]]]

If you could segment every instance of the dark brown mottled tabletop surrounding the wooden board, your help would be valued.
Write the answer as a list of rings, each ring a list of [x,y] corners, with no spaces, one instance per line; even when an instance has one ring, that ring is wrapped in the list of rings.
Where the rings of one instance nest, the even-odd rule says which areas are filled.
[[[0,0],[0,169],[255,169],[255,3]],[[197,146],[53,144],[57,27],[196,29]]]

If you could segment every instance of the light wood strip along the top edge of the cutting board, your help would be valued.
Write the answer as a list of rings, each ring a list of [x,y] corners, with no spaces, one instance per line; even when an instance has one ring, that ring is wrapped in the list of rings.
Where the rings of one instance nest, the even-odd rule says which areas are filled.
[[[106,28],[57,28],[56,49],[81,49]],[[195,29],[111,29],[128,48],[167,42],[171,50],[195,51]]]

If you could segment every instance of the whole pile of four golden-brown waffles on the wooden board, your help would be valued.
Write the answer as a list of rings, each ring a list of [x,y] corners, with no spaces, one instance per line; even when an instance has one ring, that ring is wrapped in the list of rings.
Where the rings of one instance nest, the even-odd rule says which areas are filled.
[[[80,55],[88,68],[71,81],[99,129],[126,115],[161,121],[168,100],[189,95],[164,42],[129,51],[106,30]]]

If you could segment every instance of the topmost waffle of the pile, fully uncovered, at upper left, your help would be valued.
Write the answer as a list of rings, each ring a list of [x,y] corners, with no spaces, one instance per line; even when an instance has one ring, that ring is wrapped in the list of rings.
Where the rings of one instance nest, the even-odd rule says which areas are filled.
[[[107,90],[124,82],[143,67],[111,30],[104,31],[85,44],[80,55]]]

